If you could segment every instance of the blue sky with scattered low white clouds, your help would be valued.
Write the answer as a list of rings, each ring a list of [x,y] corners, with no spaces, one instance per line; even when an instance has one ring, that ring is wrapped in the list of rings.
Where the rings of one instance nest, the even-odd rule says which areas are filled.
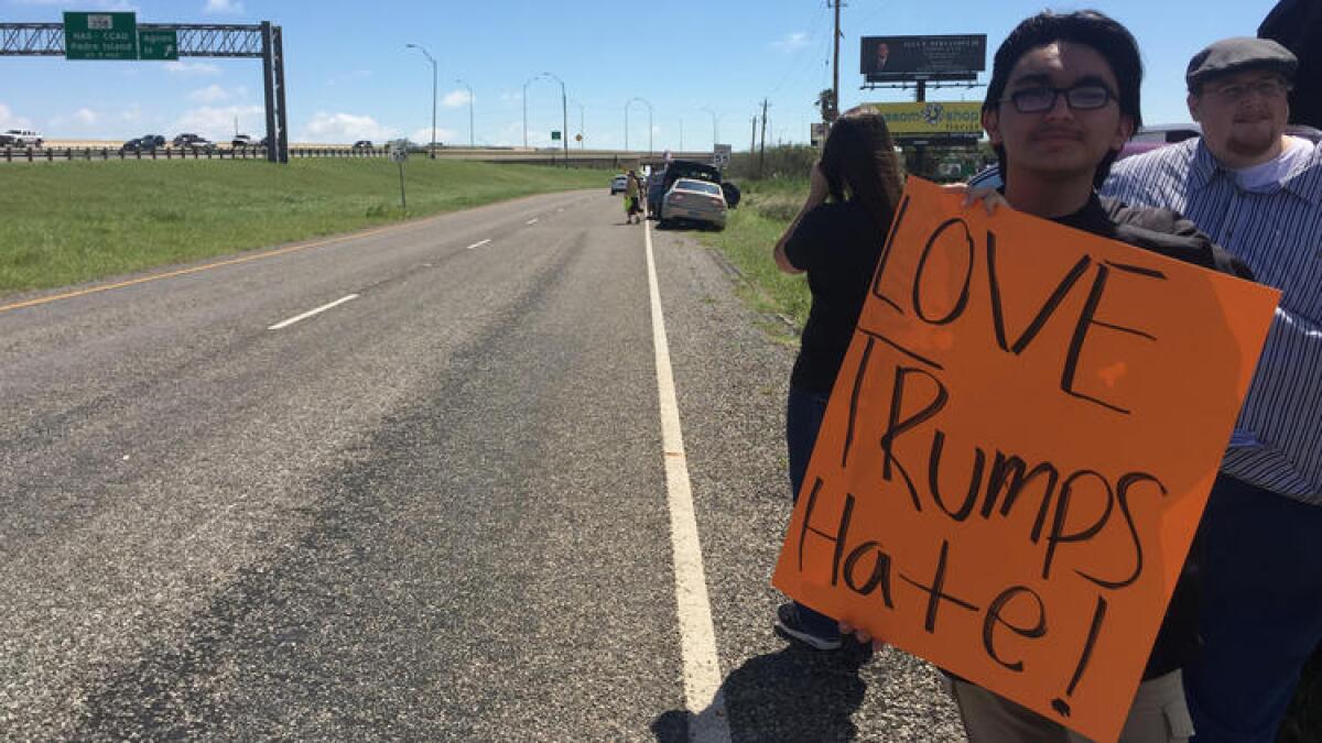
[[[841,106],[914,100],[914,90],[861,90],[859,38],[985,33],[976,87],[928,100],[981,100],[992,56],[1025,17],[1096,8],[1138,38],[1146,123],[1188,120],[1183,71],[1199,49],[1253,36],[1276,0],[845,0]],[[0,22],[61,22],[63,11],[135,11],[139,22],[256,24],[284,33],[291,143],[431,140],[551,145],[551,131],[587,148],[747,149],[767,108],[767,141],[805,143],[817,94],[832,85],[826,0],[0,0]],[[197,132],[264,135],[259,59],[178,62],[0,57],[0,130],[53,140],[122,140]],[[567,106],[562,106],[563,81]],[[461,82],[460,82],[461,81]],[[472,132],[469,130],[472,90]],[[628,128],[625,128],[625,126]],[[650,127],[650,131],[649,131]],[[579,143],[570,140],[571,145]],[[559,143],[554,143],[559,144]]]

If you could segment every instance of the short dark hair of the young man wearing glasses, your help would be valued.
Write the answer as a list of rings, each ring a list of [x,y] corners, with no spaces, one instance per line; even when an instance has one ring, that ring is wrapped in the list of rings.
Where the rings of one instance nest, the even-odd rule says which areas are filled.
[[[1014,65],[1021,57],[1054,41],[1080,44],[1101,54],[1110,65],[1116,82],[1120,83],[1120,90],[1116,91],[1120,112],[1133,118],[1136,130],[1142,126],[1140,89],[1144,83],[1144,62],[1138,56],[1138,42],[1120,21],[1097,11],[1073,13],[1043,11],[1025,19],[1015,26],[1010,36],[1001,42],[1001,48],[995,50],[992,82],[988,83],[988,97],[982,102],[982,111],[993,111],[1001,104],[1006,85],[1010,83],[1010,71],[1014,70]],[[995,155],[1001,165],[1001,177],[1005,178],[1009,175],[1005,147],[997,145]],[[1117,155],[1117,151],[1110,151],[1103,157],[1093,173],[1093,185],[1100,186],[1107,180],[1110,164],[1116,161]]]

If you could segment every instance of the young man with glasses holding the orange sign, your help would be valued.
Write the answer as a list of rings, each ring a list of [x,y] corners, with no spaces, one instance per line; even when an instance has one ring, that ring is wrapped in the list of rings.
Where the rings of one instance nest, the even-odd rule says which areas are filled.
[[[999,160],[1010,208],[1207,268],[1251,274],[1174,212],[1130,208],[1095,192],[1141,123],[1142,62],[1133,36],[1093,12],[1039,13],[995,53],[982,126]],[[1196,554],[1196,547],[1192,551]],[[1181,669],[1198,649],[1195,561],[1186,563],[1129,710],[1121,740],[1192,735]],[[968,681],[952,694],[973,743],[1083,740],[1034,711]]]

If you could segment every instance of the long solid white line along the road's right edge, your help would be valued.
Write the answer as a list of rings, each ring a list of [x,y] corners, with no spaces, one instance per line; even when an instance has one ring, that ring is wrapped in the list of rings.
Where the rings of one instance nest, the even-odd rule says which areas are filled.
[[[652,229],[644,226],[648,247],[648,288],[652,295],[652,345],[656,349],[657,393],[661,401],[661,448],[670,505],[670,546],[674,550],[674,594],[680,615],[680,644],[683,652],[683,698],[693,714],[689,740],[728,743],[730,718],[720,691],[720,658],[717,632],[711,623],[707,578],[702,568],[702,542],[693,510],[689,464],[680,428],[680,405],[674,394],[670,346],[661,315],[661,290],[652,255]]]

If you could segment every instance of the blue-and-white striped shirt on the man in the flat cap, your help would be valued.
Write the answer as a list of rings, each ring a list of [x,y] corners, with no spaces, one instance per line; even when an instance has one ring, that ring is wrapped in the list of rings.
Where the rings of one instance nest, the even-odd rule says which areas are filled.
[[[1103,193],[1179,212],[1281,290],[1222,471],[1322,505],[1322,144],[1248,192],[1202,141],[1116,163]]]

